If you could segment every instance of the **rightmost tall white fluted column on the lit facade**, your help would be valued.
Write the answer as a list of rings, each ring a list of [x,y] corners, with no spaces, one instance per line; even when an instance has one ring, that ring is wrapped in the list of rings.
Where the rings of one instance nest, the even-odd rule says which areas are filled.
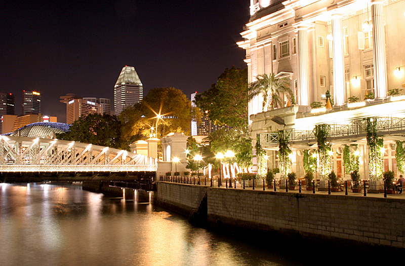
[[[382,0],[371,1],[371,17],[373,24],[374,85],[376,88],[376,98],[385,98],[387,97],[387,72]]]

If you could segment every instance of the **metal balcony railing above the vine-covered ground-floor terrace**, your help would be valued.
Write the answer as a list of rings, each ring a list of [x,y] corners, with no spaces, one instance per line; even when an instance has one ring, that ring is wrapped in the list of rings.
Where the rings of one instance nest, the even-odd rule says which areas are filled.
[[[394,139],[405,139],[405,118],[398,117],[375,117],[377,119],[377,134],[390,135]],[[331,130],[329,140],[352,141],[366,137],[367,120],[355,119],[347,124],[329,124]],[[315,129],[313,130],[285,130],[289,134],[291,144],[316,143]],[[278,145],[278,131],[260,134],[260,143],[270,146]]]

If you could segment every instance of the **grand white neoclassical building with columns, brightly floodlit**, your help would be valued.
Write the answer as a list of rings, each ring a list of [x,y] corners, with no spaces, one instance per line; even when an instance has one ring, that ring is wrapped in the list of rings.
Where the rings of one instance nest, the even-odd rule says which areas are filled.
[[[395,141],[404,140],[400,132],[405,130],[401,126],[405,111],[401,96],[405,87],[405,50],[401,45],[405,40],[405,2],[251,0],[250,4],[251,19],[241,33],[245,40],[238,42],[246,50],[248,80],[255,82],[257,75],[264,73],[287,78],[297,101],[287,106],[285,97],[286,107],[269,111],[263,111],[261,95],[249,102],[253,146],[260,136],[269,156],[268,167],[278,167],[277,131],[288,130],[292,169],[302,177],[303,151],[316,150],[313,130],[316,125],[328,124],[336,174],[347,177],[342,150],[355,144],[351,150],[360,152],[361,177],[373,178],[376,173],[370,170],[373,162],[369,162],[363,119],[377,117],[377,132],[384,134],[382,170],[398,175]],[[313,102],[325,105],[328,90],[333,108],[311,110]],[[372,94],[375,99],[365,100],[373,98]]]

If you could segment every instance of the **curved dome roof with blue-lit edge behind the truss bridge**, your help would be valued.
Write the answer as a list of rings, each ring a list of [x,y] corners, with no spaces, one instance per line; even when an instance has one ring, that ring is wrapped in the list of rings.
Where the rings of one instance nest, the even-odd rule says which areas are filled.
[[[56,133],[64,133],[71,125],[57,122],[37,122],[26,125],[8,134],[7,136],[55,138]]]

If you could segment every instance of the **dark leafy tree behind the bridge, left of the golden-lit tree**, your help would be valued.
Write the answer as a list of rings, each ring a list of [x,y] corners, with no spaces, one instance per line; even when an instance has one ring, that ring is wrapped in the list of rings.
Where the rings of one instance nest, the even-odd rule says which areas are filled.
[[[91,113],[74,121],[70,131],[58,134],[58,139],[91,143],[93,145],[123,148],[121,122],[116,116]]]

